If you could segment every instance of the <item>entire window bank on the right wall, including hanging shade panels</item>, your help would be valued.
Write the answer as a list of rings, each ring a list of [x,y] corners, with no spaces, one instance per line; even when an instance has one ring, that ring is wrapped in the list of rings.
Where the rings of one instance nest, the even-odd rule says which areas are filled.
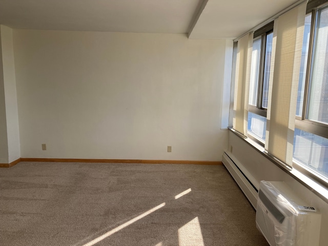
[[[328,0],[297,3],[274,32],[270,23],[237,42],[233,128],[328,187]]]

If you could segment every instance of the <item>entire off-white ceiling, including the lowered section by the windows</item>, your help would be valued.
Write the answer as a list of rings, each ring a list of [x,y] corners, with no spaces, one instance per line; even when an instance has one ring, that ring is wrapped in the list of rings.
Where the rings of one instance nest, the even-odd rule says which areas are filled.
[[[0,0],[15,29],[190,33],[235,38],[296,0]]]

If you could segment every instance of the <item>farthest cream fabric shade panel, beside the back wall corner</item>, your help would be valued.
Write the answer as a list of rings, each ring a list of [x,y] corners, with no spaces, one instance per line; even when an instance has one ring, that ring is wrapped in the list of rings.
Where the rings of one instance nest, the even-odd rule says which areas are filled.
[[[253,50],[253,34],[248,33],[238,40],[236,60],[236,81],[233,128],[247,135],[247,117],[249,105],[249,87],[251,77],[251,62]]]

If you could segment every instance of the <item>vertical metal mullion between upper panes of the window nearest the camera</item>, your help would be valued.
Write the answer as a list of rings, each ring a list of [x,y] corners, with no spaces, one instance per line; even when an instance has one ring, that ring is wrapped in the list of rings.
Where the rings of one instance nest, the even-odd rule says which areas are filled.
[[[304,100],[303,100],[303,110],[302,110],[302,120],[306,118],[308,114],[308,99],[310,92],[310,77],[312,71],[312,58],[314,51],[314,34],[316,29],[317,11],[312,10],[311,16],[311,30],[310,30],[310,40],[309,40],[309,52],[308,52],[308,63],[306,64],[306,75],[305,75],[305,85],[304,85]]]

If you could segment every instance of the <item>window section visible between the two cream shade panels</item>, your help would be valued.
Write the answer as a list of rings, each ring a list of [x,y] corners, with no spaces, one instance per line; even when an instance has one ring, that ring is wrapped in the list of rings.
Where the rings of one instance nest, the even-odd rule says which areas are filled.
[[[264,144],[268,109],[273,22],[254,32],[251,63],[248,133]]]

